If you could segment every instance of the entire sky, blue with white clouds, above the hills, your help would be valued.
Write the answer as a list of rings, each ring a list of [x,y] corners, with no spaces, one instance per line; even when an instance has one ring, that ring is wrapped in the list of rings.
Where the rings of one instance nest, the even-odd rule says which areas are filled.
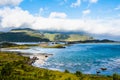
[[[0,0],[0,31],[26,27],[120,40],[120,0]]]

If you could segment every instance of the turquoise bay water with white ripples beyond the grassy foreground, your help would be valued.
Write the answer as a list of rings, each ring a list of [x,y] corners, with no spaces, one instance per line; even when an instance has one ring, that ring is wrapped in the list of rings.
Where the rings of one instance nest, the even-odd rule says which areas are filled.
[[[107,68],[100,70],[101,74],[120,73],[120,44],[74,44],[63,49],[35,49],[54,54],[44,65],[37,64],[38,67],[86,74],[96,74],[100,68]]]

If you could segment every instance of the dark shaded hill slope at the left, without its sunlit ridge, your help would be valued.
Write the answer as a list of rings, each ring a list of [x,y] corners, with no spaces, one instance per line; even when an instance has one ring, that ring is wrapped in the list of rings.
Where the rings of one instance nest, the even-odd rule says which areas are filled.
[[[39,42],[39,41],[49,41],[45,38],[40,38],[36,36],[31,36],[24,32],[13,33],[1,33],[0,34],[0,41],[8,41],[8,42]]]

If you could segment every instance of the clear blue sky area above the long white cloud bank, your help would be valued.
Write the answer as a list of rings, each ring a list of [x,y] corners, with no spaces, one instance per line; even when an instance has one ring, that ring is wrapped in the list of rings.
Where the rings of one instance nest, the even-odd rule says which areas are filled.
[[[91,0],[92,1],[92,0]],[[72,3],[77,0],[24,0],[20,7],[28,10],[31,14],[39,13],[43,9],[41,15],[48,17],[51,12],[64,12],[67,18],[78,19],[83,17],[83,11],[90,10],[86,16],[90,18],[117,18],[120,15],[120,10],[115,8],[120,7],[119,0],[80,0],[80,4],[72,7]]]

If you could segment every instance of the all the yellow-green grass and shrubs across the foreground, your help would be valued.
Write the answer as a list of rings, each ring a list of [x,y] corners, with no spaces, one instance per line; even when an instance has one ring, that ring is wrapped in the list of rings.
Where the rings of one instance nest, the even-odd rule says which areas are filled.
[[[0,80],[120,80],[120,76],[85,75],[52,71],[28,65],[28,57],[16,53],[0,52]]]

